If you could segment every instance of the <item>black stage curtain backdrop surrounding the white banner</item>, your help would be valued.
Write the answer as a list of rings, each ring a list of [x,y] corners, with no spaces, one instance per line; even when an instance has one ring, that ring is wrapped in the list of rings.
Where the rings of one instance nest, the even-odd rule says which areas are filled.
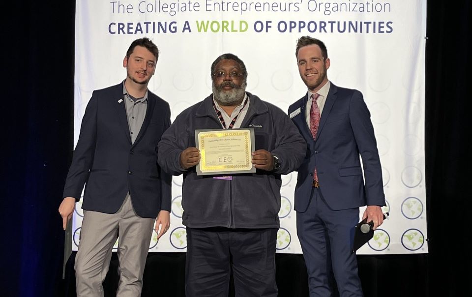
[[[74,296],[73,257],[67,278],[61,277],[64,238],[57,208],[73,149],[75,1],[14,1],[2,8],[1,89],[6,92],[1,122],[6,139],[1,145],[0,295]],[[468,0],[428,2],[430,252],[359,256],[367,297],[470,294],[470,17]],[[181,296],[184,257],[149,255],[143,296]],[[107,289],[115,285],[116,265],[112,261]],[[280,296],[306,296],[304,269],[300,255],[277,255]],[[180,283],[170,283],[171,274]]]

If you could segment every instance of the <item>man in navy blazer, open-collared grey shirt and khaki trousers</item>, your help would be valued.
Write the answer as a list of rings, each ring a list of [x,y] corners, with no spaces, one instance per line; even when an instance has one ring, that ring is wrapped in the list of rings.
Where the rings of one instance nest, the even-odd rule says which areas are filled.
[[[158,53],[148,38],[133,41],[123,59],[126,79],[93,91],[82,119],[59,206],[65,229],[85,184],[77,296],[103,296],[118,237],[117,296],[140,296],[154,221],[158,238],[169,229],[171,177],[157,164],[157,143],[170,108],[148,90]]]

